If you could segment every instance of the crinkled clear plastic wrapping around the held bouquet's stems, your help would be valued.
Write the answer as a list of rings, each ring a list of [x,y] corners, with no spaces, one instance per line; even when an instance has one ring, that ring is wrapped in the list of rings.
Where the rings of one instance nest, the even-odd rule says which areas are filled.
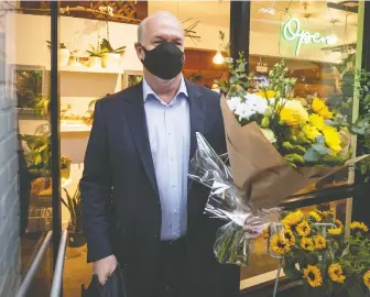
[[[270,222],[279,221],[279,209],[255,209],[233,185],[230,167],[218,156],[205,138],[197,133],[197,151],[191,162],[189,177],[210,189],[205,213],[222,219],[214,246],[220,263],[246,266],[253,239]]]

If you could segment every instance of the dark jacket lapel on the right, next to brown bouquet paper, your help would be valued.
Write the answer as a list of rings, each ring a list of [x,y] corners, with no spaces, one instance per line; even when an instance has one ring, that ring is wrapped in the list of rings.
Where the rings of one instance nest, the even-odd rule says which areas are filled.
[[[189,110],[191,110],[191,152],[189,161],[194,157],[195,151],[197,148],[196,132],[204,134],[205,131],[205,110],[204,100],[202,100],[202,92],[198,86],[186,81],[188,98],[189,98]],[[193,185],[193,179],[188,180],[188,190],[191,190]]]

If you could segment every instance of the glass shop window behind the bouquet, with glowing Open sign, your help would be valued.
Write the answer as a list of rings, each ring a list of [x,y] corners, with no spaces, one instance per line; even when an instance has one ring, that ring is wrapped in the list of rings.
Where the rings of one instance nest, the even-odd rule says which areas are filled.
[[[356,13],[327,7],[325,1],[252,1],[249,67],[261,79],[281,59],[296,78],[294,95],[298,98],[319,97],[330,108],[352,114],[355,61],[357,42]],[[347,184],[348,169],[342,169],[301,193]],[[351,208],[347,199],[323,206],[333,208],[346,222]],[[347,220],[348,222],[348,220]],[[257,240],[250,265],[242,270],[242,287],[275,278],[278,262],[266,254],[266,242]]]

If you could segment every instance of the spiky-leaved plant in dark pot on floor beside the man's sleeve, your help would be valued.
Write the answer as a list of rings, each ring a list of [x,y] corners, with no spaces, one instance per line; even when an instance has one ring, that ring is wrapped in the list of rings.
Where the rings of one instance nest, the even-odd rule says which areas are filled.
[[[68,240],[70,248],[79,248],[86,243],[83,233],[83,210],[81,197],[79,188],[76,189],[74,196],[63,188],[66,194],[66,200],[62,198],[63,205],[68,209],[70,220],[68,223]]]

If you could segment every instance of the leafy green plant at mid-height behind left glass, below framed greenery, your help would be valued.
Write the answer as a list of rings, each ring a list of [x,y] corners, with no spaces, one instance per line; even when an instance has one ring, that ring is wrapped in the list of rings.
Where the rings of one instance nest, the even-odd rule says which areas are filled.
[[[24,150],[24,157],[30,173],[48,176],[51,173],[52,156],[50,134],[21,135],[21,140],[28,146],[28,150]]]

